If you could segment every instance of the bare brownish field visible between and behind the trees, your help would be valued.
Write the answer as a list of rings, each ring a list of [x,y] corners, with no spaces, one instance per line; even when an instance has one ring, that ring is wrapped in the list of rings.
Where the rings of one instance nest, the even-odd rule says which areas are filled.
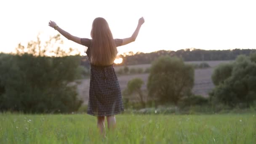
[[[185,62],[188,64],[200,64],[203,61],[189,61]],[[208,92],[211,91],[212,88],[214,88],[214,85],[211,80],[211,75],[213,73],[213,69],[221,63],[227,63],[230,61],[204,61],[208,63],[211,67],[207,69],[195,69],[195,85],[193,88],[193,93],[199,94],[202,96],[207,97]],[[128,66],[130,69],[131,68],[143,68],[146,69],[148,67],[151,67],[151,64],[139,64],[139,65],[129,65]],[[115,67],[115,70],[117,71],[118,69],[123,68],[122,67]],[[147,79],[148,79],[149,74],[136,74],[136,75],[121,75],[118,76],[118,80],[120,83],[120,87],[122,90],[126,88],[126,85],[129,80],[132,80],[133,78],[139,77],[142,80],[144,80],[145,85],[143,85],[143,89],[146,89],[146,84],[147,84]],[[88,97],[89,97],[89,84],[90,84],[90,79],[84,79],[81,81],[81,84],[78,85],[78,92],[79,92],[79,97],[84,100],[84,103],[87,104],[88,102]]]

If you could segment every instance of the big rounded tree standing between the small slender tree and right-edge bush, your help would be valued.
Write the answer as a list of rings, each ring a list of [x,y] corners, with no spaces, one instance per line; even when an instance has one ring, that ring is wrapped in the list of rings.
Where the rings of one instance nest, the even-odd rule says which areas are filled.
[[[149,96],[177,104],[191,93],[193,85],[194,68],[180,58],[161,56],[153,62],[147,83]]]

